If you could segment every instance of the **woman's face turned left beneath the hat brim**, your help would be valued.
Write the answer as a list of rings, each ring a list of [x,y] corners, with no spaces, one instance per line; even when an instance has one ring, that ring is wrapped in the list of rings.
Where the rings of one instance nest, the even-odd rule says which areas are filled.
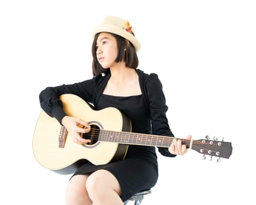
[[[117,59],[117,40],[110,33],[100,33],[96,43],[96,55],[104,69],[114,66]]]

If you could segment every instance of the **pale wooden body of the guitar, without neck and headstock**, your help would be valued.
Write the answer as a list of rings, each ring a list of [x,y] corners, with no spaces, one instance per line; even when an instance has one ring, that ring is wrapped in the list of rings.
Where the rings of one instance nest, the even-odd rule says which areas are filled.
[[[61,100],[67,115],[80,118],[91,127],[131,132],[131,122],[116,108],[108,107],[95,111],[82,98],[73,94],[61,95]],[[47,169],[69,174],[86,161],[102,165],[125,158],[128,145],[97,141],[97,138],[91,138],[92,144],[79,145],[72,141],[68,132],[65,138],[60,138],[63,128],[65,127],[44,111],[39,115],[32,146],[36,160]]]

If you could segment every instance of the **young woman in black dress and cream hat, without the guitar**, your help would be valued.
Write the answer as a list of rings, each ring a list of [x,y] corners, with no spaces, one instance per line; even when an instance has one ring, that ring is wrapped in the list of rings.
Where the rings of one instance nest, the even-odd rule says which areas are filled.
[[[132,132],[174,136],[165,112],[167,105],[157,74],[137,69],[140,44],[128,21],[107,16],[93,30],[93,77],[75,84],[47,87],[41,91],[42,109],[64,125],[74,143],[86,144],[81,133],[91,130],[88,122],[68,116],[62,109],[62,94],[75,94],[96,110],[118,108],[131,120]],[[81,127],[83,125],[83,127]],[[187,136],[188,139],[191,136]],[[167,157],[187,152],[181,140],[158,151]],[[158,163],[155,146],[129,145],[125,159],[106,165],[81,165],[69,180],[67,204],[123,204],[133,194],[157,183]]]

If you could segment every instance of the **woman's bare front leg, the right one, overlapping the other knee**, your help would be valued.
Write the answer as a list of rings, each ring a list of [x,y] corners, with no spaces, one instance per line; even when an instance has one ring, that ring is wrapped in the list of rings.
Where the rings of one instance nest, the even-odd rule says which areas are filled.
[[[107,170],[98,170],[88,176],[86,182],[89,198],[94,205],[122,205],[118,180]]]

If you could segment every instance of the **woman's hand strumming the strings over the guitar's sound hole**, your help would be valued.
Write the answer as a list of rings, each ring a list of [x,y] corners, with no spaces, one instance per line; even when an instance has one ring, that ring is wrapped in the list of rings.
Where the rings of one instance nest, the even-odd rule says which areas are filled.
[[[87,122],[82,121],[79,118],[66,115],[64,118],[62,118],[61,124],[67,128],[68,133],[74,142],[79,144],[91,142],[89,139],[84,139],[81,137],[81,133],[87,133],[91,130],[91,127]]]

